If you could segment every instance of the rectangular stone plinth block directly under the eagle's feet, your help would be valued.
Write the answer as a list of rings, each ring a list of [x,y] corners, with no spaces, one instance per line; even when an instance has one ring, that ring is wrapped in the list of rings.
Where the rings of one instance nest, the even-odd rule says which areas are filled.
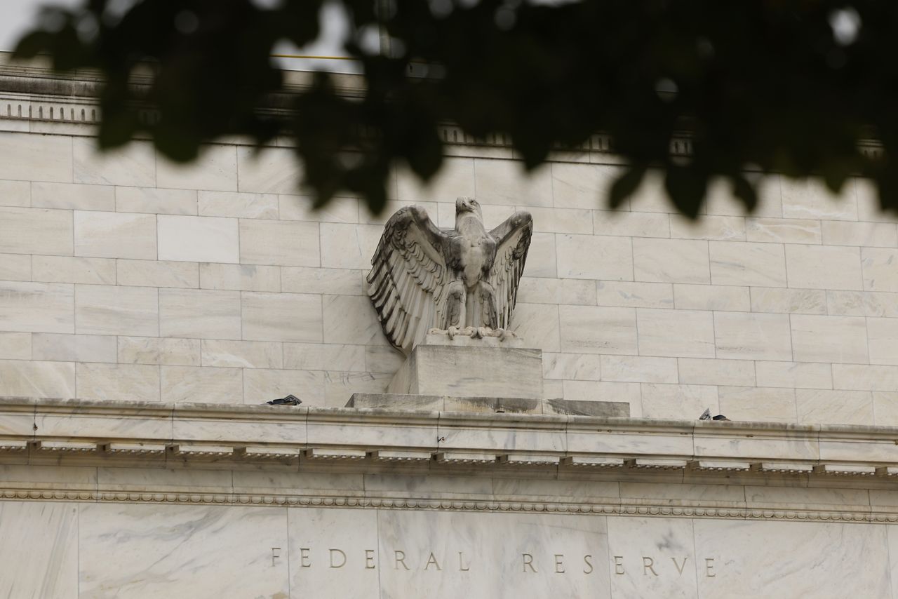
[[[542,398],[542,351],[418,345],[388,393]]]

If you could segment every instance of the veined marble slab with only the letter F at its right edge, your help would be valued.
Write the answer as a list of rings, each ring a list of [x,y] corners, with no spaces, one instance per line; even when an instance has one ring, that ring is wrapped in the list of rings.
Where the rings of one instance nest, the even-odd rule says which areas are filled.
[[[78,596],[286,597],[285,524],[283,507],[83,505]]]

